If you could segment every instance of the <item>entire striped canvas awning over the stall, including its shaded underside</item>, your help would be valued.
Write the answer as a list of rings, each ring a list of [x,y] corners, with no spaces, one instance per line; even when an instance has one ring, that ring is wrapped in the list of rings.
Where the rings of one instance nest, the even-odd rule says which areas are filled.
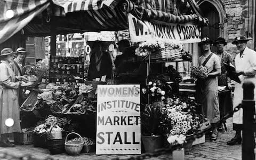
[[[161,2],[161,5],[150,7],[148,4],[136,4],[134,0],[0,0],[0,43],[21,29],[27,36],[48,36],[51,33],[51,21],[57,24],[57,34],[124,30],[128,28],[129,12],[147,21],[192,21],[207,25],[207,19],[198,14],[171,14],[167,1],[154,0]],[[13,16],[8,18],[7,13]],[[50,20],[50,15],[58,18]]]

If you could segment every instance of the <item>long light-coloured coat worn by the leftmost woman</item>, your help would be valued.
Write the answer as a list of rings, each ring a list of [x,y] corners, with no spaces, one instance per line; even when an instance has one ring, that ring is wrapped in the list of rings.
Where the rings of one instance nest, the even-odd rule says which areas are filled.
[[[15,82],[15,75],[9,63],[0,63],[0,133],[20,132],[20,111],[18,105],[17,89],[19,83]],[[12,118],[13,126],[7,127],[5,120]]]

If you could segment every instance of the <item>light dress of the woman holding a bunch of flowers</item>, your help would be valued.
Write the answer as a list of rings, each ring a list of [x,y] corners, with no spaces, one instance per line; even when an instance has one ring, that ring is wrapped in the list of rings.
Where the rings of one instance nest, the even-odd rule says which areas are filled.
[[[199,65],[202,66],[205,59],[202,55],[199,57]],[[208,73],[220,69],[220,60],[218,55],[213,54],[209,61],[205,64]],[[217,123],[220,120],[219,111],[219,100],[218,100],[218,78],[217,77],[207,77],[201,81],[201,104],[203,107],[203,112],[206,118],[209,119],[210,123]]]

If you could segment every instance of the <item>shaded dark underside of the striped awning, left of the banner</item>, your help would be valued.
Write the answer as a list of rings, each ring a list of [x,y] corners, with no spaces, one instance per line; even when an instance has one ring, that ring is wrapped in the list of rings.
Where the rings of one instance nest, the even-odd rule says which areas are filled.
[[[69,22],[66,19],[70,19]],[[78,19],[83,21],[77,22]],[[103,7],[100,10],[82,11],[81,14],[68,13],[57,20],[57,34],[84,33],[86,31],[115,31],[128,28],[126,13],[119,7],[111,10]],[[61,25],[58,25],[61,24]],[[49,26],[29,23],[25,28],[26,35],[49,36]]]

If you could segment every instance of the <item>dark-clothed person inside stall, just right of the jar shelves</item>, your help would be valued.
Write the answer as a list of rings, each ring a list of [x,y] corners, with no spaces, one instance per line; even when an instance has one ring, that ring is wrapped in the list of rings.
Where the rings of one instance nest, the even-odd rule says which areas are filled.
[[[101,78],[106,75],[107,79],[113,77],[113,66],[110,54],[102,51],[102,42],[95,41],[92,47],[92,55],[88,70],[88,81]]]

